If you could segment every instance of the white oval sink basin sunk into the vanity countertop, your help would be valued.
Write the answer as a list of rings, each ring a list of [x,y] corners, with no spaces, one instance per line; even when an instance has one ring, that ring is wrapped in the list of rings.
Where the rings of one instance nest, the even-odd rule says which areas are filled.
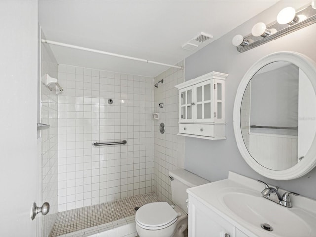
[[[313,228],[302,219],[300,211],[295,207],[284,207],[246,191],[228,192],[222,198],[230,211],[254,227],[260,229],[261,224],[269,224],[273,230],[267,233],[272,235],[308,237],[312,234]]]

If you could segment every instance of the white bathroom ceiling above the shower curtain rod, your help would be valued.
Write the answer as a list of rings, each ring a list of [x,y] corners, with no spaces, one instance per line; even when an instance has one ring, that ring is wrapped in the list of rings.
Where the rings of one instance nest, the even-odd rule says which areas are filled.
[[[210,42],[278,0],[40,0],[39,23],[47,40],[176,64],[201,49],[182,45],[201,32]],[[205,46],[205,45],[204,45]],[[59,64],[156,76],[149,63],[51,46]]]

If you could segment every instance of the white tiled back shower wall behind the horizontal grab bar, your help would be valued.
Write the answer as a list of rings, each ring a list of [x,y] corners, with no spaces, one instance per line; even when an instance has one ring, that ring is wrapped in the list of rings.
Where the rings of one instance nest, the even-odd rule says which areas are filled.
[[[70,65],[58,76],[59,211],[153,192],[153,78]]]

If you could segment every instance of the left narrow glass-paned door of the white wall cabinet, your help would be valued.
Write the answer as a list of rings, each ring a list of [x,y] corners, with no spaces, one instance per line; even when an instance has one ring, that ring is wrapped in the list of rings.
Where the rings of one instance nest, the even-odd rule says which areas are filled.
[[[179,91],[180,101],[180,122],[192,122],[193,121],[193,89],[192,87],[185,88]]]

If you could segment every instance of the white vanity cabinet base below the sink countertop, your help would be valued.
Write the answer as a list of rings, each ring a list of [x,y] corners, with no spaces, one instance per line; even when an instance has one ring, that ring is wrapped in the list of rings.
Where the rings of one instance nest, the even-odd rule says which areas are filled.
[[[188,237],[249,237],[189,195]]]

